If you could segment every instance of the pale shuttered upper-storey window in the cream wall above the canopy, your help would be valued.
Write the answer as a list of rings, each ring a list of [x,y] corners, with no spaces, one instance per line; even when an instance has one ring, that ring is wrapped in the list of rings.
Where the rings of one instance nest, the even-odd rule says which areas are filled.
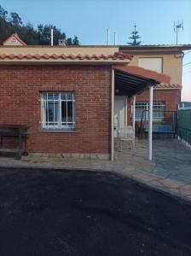
[[[163,58],[139,58],[139,67],[163,73]]]

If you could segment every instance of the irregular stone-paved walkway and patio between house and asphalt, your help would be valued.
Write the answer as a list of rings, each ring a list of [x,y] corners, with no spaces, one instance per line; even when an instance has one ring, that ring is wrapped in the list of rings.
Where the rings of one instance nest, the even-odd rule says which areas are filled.
[[[191,149],[177,139],[153,140],[153,161],[148,161],[148,142],[136,141],[135,154],[115,152],[115,160],[84,160],[62,157],[0,158],[0,166],[51,167],[118,172],[155,189],[191,201]]]

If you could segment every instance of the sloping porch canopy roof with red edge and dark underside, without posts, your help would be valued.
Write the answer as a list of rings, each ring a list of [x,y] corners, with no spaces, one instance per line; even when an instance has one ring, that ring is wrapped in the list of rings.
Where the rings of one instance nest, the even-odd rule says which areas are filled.
[[[142,67],[113,65],[115,73],[115,92],[117,95],[134,96],[150,85],[170,83],[167,75],[153,72]]]

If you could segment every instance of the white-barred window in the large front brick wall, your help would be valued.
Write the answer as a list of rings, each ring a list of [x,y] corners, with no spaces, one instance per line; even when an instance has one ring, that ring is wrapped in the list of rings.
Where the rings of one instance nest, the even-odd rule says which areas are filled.
[[[41,95],[43,130],[75,130],[75,96],[72,92],[44,92]]]

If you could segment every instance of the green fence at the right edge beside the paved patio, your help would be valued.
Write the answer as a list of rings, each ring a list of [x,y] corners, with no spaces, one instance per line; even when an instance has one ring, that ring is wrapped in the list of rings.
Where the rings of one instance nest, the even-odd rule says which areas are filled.
[[[178,109],[177,135],[191,144],[191,109]]]

